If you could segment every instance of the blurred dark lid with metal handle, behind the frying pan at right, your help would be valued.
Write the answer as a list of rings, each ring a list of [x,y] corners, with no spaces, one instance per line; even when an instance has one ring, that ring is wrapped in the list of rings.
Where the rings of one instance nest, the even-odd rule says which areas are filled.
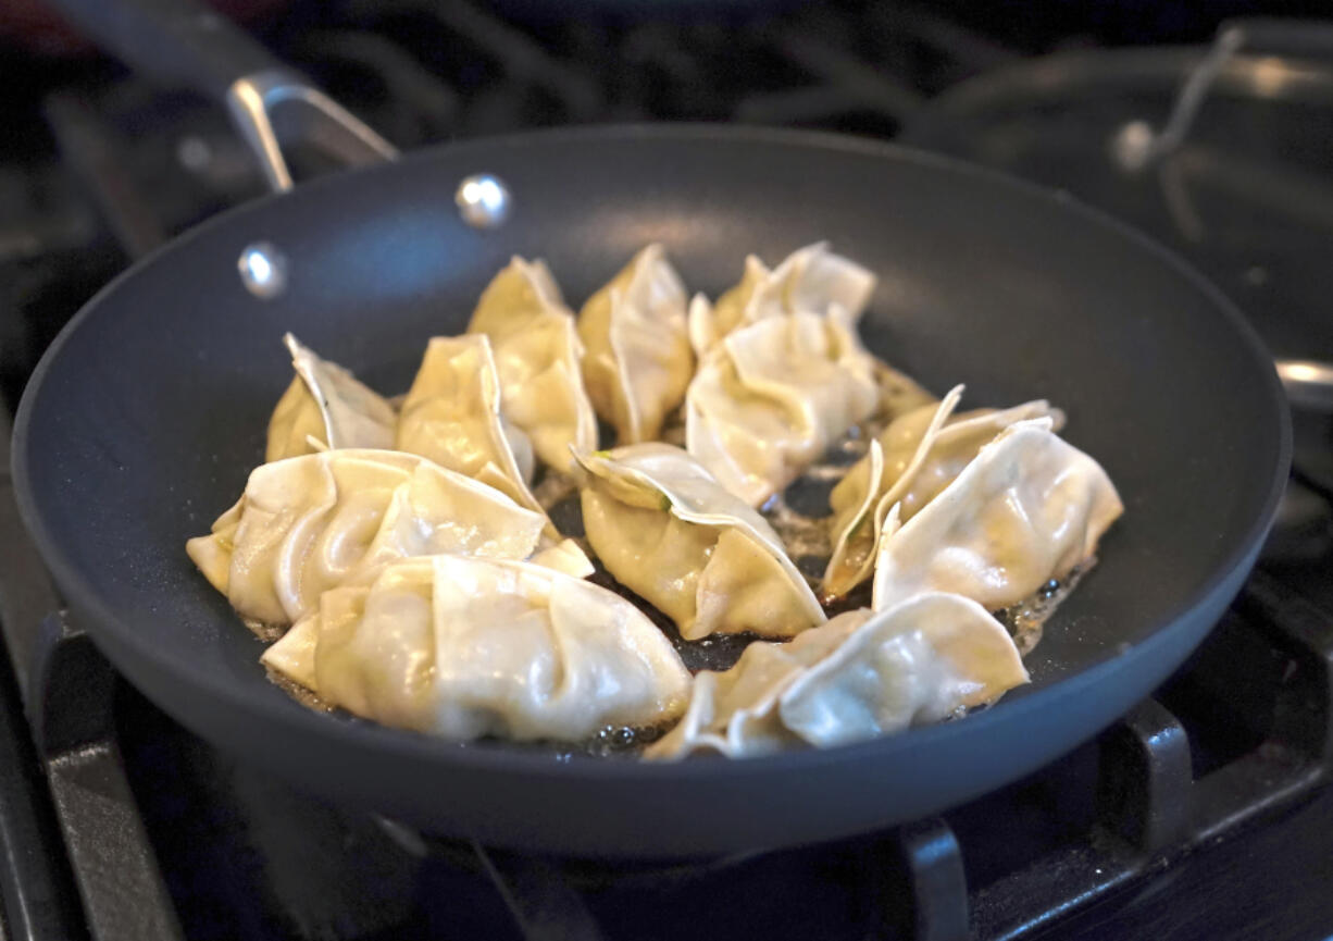
[[[1130,221],[1237,299],[1277,356],[1329,361],[1330,53],[1333,24],[1306,20],[1226,23],[1212,48],[1060,52],[949,88],[900,140]],[[1126,163],[1124,141],[1145,132],[1153,159]]]

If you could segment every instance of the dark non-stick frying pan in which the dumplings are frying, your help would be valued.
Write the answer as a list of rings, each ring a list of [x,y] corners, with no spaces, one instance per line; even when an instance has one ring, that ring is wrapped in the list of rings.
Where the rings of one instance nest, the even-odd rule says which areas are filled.
[[[101,4],[88,4],[71,5],[107,41]],[[163,45],[155,23],[140,17],[137,32],[109,40],[133,57]],[[177,75],[229,85],[223,44],[201,81],[187,55],[197,31],[172,28]],[[457,211],[460,179],[479,171],[508,183],[501,225],[476,228]],[[1068,411],[1068,437],[1125,498],[1101,561],[1029,658],[1033,682],[997,706],[746,761],[451,745],[293,702],[185,557],[187,537],[207,530],[261,459],[291,379],[284,331],[396,392],[428,337],[463,329],[512,253],[544,256],[577,304],[652,240],[690,288],[716,293],[745,252],[777,260],[816,239],[878,273],[862,324],[872,349],[934,389],[966,380],[973,403],[1050,397]],[[237,276],[255,243],[285,257],[284,289],[267,297]],[[1108,217],[877,143],[640,127],[429,149],[185,233],[109,284],[52,344],[19,411],[13,472],[73,616],[133,684],[219,746],[432,833],[685,858],[917,818],[1094,734],[1156,688],[1238,590],[1288,452],[1281,389],[1249,327],[1200,276]]]

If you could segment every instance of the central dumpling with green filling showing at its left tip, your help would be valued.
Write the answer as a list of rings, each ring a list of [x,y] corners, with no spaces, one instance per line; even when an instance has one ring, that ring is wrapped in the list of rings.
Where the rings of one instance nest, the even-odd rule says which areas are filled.
[[[681,637],[790,637],[824,609],[772,526],[680,448],[636,444],[579,455],[584,528],[623,585],[676,621]]]

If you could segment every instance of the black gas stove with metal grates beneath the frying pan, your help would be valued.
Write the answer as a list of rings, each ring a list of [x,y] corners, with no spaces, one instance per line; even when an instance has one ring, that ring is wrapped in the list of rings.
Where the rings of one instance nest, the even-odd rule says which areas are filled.
[[[641,3],[575,19],[537,4],[345,0],[289,4],[257,29],[409,149],[625,120],[893,137],[942,89],[1057,43],[1204,39],[1216,25],[1174,5],[1149,32],[1116,9],[997,27],[964,4]],[[92,56],[8,56],[0,75],[23,96],[23,133],[0,148],[0,389],[12,408],[83,300],[264,187],[225,116],[195,99]],[[0,938],[1333,933],[1333,510],[1317,472],[1333,437],[1321,415],[1298,416],[1313,456],[1228,614],[1096,741],[890,832],[669,866],[423,836],[193,737],[63,613],[19,524],[7,416],[0,425]]]

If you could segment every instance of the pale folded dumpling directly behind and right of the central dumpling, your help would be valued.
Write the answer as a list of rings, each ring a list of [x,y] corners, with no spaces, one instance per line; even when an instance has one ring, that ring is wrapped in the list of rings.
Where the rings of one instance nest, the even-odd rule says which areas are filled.
[[[685,396],[685,447],[758,506],[877,403],[874,360],[842,308],[766,317],[700,364]]]

